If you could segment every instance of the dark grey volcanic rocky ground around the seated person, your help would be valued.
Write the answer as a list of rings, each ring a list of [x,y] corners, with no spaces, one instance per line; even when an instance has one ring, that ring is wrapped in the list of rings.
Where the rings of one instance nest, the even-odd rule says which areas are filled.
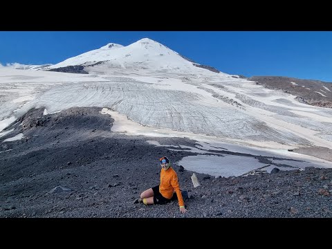
[[[68,109],[43,116],[30,111],[0,138],[0,217],[332,217],[332,169],[214,178],[182,170],[190,151],[149,145],[193,146],[185,138],[124,136],[110,131],[100,108]],[[19,125],[21,123],[21,125]],[[21,140],[2,142],[19,132]],[[16,133],[14,133],[16,132]],[[158,158],[168,156],[178,173],[187,213],[178,203],[133,204],[158,185]]]

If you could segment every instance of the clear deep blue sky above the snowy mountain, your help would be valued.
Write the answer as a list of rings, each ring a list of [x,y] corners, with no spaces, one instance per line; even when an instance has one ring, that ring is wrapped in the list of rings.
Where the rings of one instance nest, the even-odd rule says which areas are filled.
[[[145,37],[223,73],[332,82],[331,31],[0,31],[0,63],[56,64]]]

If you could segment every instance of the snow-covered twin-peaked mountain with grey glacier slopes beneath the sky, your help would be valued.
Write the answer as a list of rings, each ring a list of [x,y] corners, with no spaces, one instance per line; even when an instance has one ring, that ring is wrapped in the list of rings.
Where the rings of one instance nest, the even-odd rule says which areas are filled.
[[[71,67],[89,74],[53,72]],[[3,67],[0,76],[0,131],[33,108],[47,114],[102,107],[137,125],[122,128],[126,133],[227,142],[229,148],[255,148],[259,155],[273,150],[285,156],[300,147],[332,149],[332,109],[212,71],[147,38],[129,46],[107,44],[41,71]]]

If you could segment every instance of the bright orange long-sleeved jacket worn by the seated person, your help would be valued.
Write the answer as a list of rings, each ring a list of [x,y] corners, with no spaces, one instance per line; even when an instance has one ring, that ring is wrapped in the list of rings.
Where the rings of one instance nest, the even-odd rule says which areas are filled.
[[[183,197],[180,190],[180,185],[178,185],[178,176],[172,167],[168,169],[161,169],[160,171],[160,185],[159,192],[166,199],[171,199],[174,190],[176,192],[176,196],[178,196],[178,205],[180,207],[185,206],[185,202],[183,201]]]

